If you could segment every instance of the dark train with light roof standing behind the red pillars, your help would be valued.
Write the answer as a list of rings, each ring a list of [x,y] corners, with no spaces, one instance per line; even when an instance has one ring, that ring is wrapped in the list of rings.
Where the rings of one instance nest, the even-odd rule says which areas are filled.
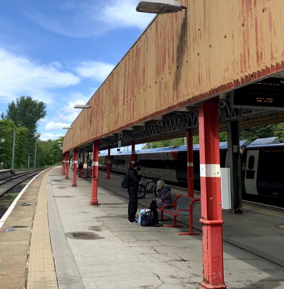
[[[220,143],[220,166],[228,167],[228,144]],[[136,151],[142,175],[160,177],[168,184],[187,186],[187,146],[149,148]],[[100,153],[99,168],[107,169],[107,152]],[[279,138],[240,141],[242,195],[284,200],[284,143]],[[111,153],[111,171],[124,174],[131,163],[131,151]],[[200,191],[199,144],[193,145],[194,189]]]

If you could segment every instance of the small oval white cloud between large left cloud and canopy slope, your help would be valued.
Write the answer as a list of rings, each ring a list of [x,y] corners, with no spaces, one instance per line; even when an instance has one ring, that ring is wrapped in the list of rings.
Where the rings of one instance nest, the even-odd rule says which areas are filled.
[[[75,70],[81,77],[90,77],[97,81],[104,81],[113,69],[113,64],[96,61],[84,61],[78,65]]]

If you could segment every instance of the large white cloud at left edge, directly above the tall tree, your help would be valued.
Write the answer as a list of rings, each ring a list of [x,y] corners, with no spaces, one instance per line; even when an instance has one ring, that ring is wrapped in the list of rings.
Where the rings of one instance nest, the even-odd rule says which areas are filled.
[[[52,102],[52,90],[78,84],[80,78],[60,71],[60,64],[41,64],[26,56],[18,56],[0,48],[0,102],[29,95],[34,99]]]

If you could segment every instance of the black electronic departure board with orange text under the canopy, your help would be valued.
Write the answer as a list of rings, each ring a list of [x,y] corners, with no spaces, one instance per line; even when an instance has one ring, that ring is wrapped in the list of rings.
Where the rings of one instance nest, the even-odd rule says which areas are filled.
[[[267,78],[234,90],[231,107],[284,110],[284,79]]]

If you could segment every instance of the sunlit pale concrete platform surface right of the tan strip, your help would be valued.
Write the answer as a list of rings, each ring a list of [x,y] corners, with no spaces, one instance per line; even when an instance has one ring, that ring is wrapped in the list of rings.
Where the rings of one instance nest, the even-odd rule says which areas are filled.
[[[62,176],[61,167],[47,180],[50,238],[60,289],[199,288],[201,236],[179,236],[186,227],[129,224],[128,198],[117,193],[120,185],[115,177],[100,180],[112,187],[99,187],[99,206],[89,205],[90,182],[78,179],[77,187],[71,182]],[[149,200],[142,201],[148,205]],[[283,252],[283,246],[275,250]],[[224,243],[224,274],[231,289],[284,288],[283,267],[228,243]]]

